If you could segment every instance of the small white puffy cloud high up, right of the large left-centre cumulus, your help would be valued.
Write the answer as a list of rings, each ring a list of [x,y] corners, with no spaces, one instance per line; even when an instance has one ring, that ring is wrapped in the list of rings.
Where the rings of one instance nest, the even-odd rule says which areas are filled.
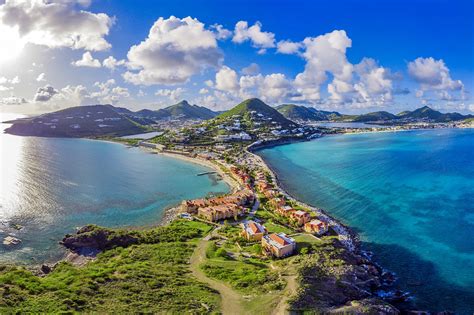
[[[256,22],[250,27],[247,21],[237,22],[232,41],[240,44],[248,40],[252,43],[253,47],[263,49],[262,53],[264,53],[265,48],[275,47],[275,34],[262,32],[262,24],[260,22]]]

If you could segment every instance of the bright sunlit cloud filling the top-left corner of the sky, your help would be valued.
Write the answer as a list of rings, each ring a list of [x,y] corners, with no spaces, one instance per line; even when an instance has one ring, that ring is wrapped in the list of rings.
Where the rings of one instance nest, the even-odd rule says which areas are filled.
[[[50,48],[105,50],[104,38],[113,19],[104,13],[75,8],[76,1],[6,0],[0,5],[0,26],[23,43]],[[78,3],[83,3],[78,1]]]

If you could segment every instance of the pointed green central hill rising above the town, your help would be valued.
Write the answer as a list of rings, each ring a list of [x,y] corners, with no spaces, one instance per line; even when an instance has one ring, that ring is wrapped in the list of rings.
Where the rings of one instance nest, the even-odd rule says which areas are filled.
[[[217,119],[226,119],[233,116],[241,116],[244,118],[249,118],[251,120],[260,120],[268,124],[274,123],[279,124],[283,128],[289,128],[291,126],[296,126],[297,124],[293,121],[285,118],[280,112],[275,108],[265,104],[258,98],[251,98],[243,101],[234,108],[220,114],[217,116]]]

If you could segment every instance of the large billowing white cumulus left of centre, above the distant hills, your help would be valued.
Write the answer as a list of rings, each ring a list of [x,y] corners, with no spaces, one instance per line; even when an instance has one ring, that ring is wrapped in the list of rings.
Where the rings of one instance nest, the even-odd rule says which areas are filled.
[[[148,37],[130,48],[125,80],[133,84],[177,84],[208,67],[218,67],[223,55],[216,35],[197,19],[159,18]]]

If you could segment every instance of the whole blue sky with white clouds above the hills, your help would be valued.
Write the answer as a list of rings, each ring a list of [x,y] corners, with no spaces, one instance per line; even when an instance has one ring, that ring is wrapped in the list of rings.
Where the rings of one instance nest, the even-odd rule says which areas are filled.
[[[474,113],[474,2],[0,0],[0,111]]]

